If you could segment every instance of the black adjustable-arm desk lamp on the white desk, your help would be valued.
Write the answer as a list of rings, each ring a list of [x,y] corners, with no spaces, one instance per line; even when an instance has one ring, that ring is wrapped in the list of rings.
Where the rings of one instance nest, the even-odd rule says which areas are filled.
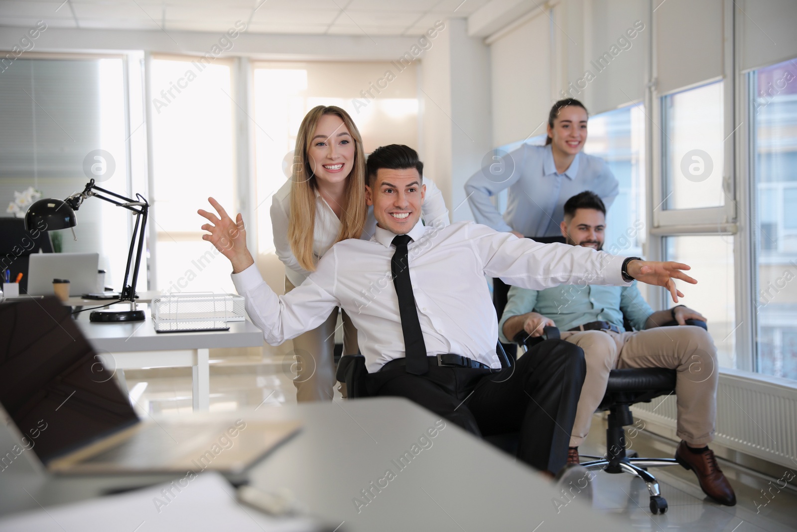
[[[106,195],[98,194],[102,192],[106,195],[111,195],[116,199],[109,198]],[[86,184],[82,192],[73,194],[69,198],[61,201],[61,199],[39,199],[28,208],[25,215],[25,228],[30,231],[35,228],[39,231],[57,231],[59,229],[66,229],[67,227],[75,227],[77,225],[77,218],[75,211],[80,208],[83,200],[95,196],[104,199],[108,203],[113,203],[118,207],[124,207],[128,211],[135,213],[135,227],[133,228],[133,237],[130,240],[130,251],[128,253],[128,264],[124,270],[124,282],[122,286],[122,294],[119,301],[130,301],[130,310],[96,310],[89,316],[89,321],[143,321],[145,319],[144,311],[135,308],[135,282],[139,278],[139,264],[141,262],[141,251],[144,245],[144,227],[147,226],[147,211],[149,211],[149,203],[143,198],[142,195],[136,194],[135,197],[138,201],[130,198],[125,198],[123,195],[118,195],[112,191],[107,191],[104,188],[97,187],[94,184],[94,179]],[[44,229],[42,229],[44,224]],[[138,246],[135,242],[138,240]],[[133,249],[135,248],[135,263],[133,262]],[[133,266],[133,275],[128,285],[128,277],[130,276],[130,267]]]

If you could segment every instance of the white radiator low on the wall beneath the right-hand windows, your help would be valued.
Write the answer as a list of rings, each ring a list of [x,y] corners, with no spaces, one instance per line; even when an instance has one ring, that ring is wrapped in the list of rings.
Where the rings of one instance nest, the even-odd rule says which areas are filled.
[[[736,369],[720,370],[714,441],[786,467],[797,464],[797,383]],[[674,394],[634,404],[646,430],[677,440]],[[637,424],[638,428],[640,424]]]

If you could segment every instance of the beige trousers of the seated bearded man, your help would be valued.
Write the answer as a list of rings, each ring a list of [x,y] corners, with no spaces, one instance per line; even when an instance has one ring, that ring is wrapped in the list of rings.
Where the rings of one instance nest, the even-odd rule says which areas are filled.
[[[587,359],[571,447],[578,447],[587,437],[592,414],[606,393],[609,372],[614,368],[677,370],[678,437],[691,447],[702,447],[714,438],[719,373],[717,349],[705,329],[681,325],[633,333],[563,332],[561,337],[583,349]]]

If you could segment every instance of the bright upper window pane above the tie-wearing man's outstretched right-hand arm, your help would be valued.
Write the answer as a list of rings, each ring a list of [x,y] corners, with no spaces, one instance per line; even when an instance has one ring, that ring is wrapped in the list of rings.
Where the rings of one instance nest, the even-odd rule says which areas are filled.
[[[665,209],[724,205],[722,82],[662,98]]]

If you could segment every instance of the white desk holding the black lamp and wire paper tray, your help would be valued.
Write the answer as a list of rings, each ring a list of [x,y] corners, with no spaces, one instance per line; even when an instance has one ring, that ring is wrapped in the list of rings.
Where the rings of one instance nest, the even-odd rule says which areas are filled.
[[[128,308],[129,305],[120,303]],[[114,308],[114,307],[108,307]],[[121,307],[120,307],[121,308]],[[100,355],[106,368],[119,372],[134,368],[190,367],[194,371],[194,410],[210,406],[209,349],[257,347],[263,333],[250,321],[230,321],[229,331],[155,333],[149,309],[147,319],[130,323],[92,323],[80,313],[77,325]]]

